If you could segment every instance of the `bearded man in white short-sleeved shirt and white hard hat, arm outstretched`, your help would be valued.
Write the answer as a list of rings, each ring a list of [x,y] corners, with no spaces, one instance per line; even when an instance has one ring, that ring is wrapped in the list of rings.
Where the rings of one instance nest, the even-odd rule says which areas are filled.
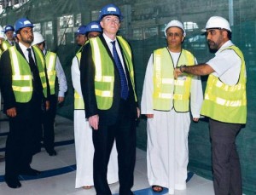
[[[202,31],[215,57],[198,66],[180,66],[174,73],[175,77],[183,73],[209,74],[201,115],[209,118],[214,191],[218,195],[241,195],[236,135],[247,121],[245,61],[241,50],[231,42],[227,20],[212,16]]]

